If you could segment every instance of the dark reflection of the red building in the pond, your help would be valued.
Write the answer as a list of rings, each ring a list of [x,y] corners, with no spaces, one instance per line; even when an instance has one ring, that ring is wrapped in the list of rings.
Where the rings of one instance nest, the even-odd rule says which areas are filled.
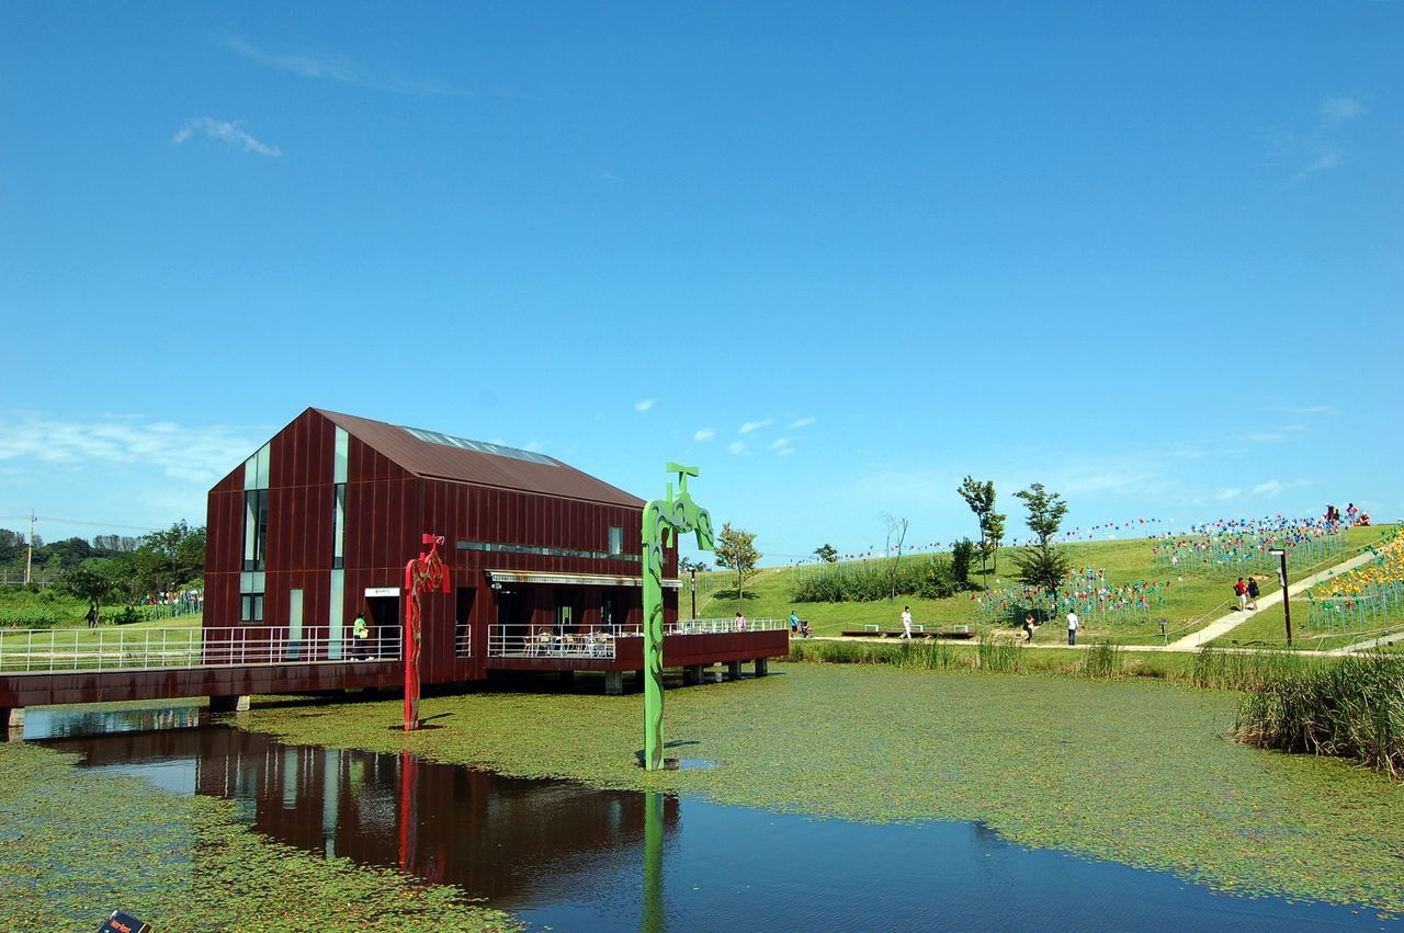
[[[663,929],[663,836],[680,824],[677,797],[282,745],[225,727],[52,745],[91,767],[164,770],[163,787],[233,800],[278,842],[453,884],[505,909],[578,898],[581,885],[637,873],[643,850],[644,925]],[[168,776],[176,765],[185,780]]]

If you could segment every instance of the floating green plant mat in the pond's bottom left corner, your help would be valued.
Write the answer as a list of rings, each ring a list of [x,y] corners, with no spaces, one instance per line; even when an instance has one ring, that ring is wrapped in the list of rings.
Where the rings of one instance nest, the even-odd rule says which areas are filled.
[[[0,929],[93,930],[118,906],[163,933],[322,933],[338,916],[406,930],[518,926],[452,888],[271,842],[227,801],[72,762],[0,744]]]

